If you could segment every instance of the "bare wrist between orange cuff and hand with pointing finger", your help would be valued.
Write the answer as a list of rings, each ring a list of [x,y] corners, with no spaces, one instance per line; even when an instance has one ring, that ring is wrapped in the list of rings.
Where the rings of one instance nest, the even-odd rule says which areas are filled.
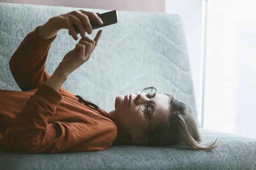
[[[44,82],[44,84],[48,85],[50,88],[55,91],[59,91],[63,83],[67,80],[68,74],[65,74],[61,67],[56,68],[52,76]]]

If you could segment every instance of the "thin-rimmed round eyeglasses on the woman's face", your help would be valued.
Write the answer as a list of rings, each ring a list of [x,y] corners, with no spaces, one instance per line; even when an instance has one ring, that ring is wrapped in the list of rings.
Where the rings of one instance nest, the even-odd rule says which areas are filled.
[[[150,99],[150,102],[144,102],[140,105],[140,110],[144,113],[149,113],[149,130],[151,130],[151,113],[155,110],[156,105],[154,102],[151,102],[151,98],[154,97],[157,94],[157,89],[153,88],[153,86],[144,88],[141,91],[142,94],[145,94],[145,96]]]

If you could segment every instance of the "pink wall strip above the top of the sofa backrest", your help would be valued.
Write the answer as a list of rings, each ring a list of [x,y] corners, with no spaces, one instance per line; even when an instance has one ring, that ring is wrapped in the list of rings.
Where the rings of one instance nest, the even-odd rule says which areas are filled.
[[[23,3],[120,11],[165,12],[165,0],[0,0],[0,3]]]

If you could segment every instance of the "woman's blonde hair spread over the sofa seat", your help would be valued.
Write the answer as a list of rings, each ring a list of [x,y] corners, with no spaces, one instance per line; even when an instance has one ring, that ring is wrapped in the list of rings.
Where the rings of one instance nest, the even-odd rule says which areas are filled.
[[[183,101],[169,96],[170,114],[161,127],[149,133],[149,146],[168,146],[184,142],[195,150],[211,150],[220,144],[218,139],[212,144],[201,143],[201,137],[192,109]]]

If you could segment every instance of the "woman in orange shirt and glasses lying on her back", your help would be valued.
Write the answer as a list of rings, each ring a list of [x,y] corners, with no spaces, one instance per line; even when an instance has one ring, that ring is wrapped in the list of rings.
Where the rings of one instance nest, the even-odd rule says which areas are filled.
[[[61,153],[105,150],[110,146],[137,144],[165,146],[185,142],[193,149],[203,146],[192,110],[168,94],[148,87],[117,96],[115,110],[107,113],[62,85],[69,75],[90,59],[102,34],[94,40],[88,18],[99,25],[99,13],[72,11],[50,18],[30,32],[9,61],[22,91],[0,90],[0,147],[16,153]],[[60,62],[52,76],[44,70],[52,41],[61,29],[80,30],[81,40]]]

